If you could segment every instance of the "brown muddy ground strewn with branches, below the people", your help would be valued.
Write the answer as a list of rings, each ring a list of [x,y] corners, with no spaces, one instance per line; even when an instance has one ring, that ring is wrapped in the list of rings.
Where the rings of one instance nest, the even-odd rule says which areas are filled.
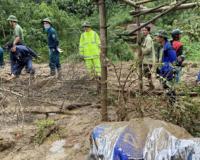
[[[121,66],[123,70],[120,74]],[[84,160],[89,153],[89,135],[101,123],[100,95],[95,80],[86,76],[83,64],[62,65],[62,80],[49,77],[47,64],[35,65],[33,79],[25,72],[9,80],[9,64],[0,70],[0,159],[1,160]],[[144,98],[133,91],[138,90],[136,73],[126,79],[130,63],[109,67],[109,121],[119,119],[121,85],[127,81],[126,114],[124,120],[142,115],[164,119],[165,96],[148,92]],[[195,87],[198,68],[185,67],[183,81],[188,88]],[[155,91],[162,92],[159,81],[154,79]],[[145,82],[144,90],[148,90]],[[135,93],[135,92],[134,92]],[[198,97],[195,97],[198,100]],[[123,105],[122,103],[121,105]],[[139,107],[138,107],[139,106]],[[39,121],[51,120],[53,124],[44,130]],[[44,133],[45,137],[38,136]]]

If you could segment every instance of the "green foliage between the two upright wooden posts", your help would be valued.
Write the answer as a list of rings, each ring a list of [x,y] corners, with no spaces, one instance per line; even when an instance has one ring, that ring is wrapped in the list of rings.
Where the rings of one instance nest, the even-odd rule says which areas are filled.
[[[124,24],[131,22],[131,7],[114,2],[107,10],[108,19],[108,58],[114,61],[132,60],[133,53],[129,44],[119,35],[124,32]],[[117,14],[116,14],[117,13]]]

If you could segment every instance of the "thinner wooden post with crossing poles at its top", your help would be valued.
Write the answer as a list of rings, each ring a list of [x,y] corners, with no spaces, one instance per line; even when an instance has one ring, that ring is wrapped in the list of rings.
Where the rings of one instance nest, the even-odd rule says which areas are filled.
[[[139,57],[139,89],[140,92],[143,92],[143,72],[142,72],[142,50],[141,50],[141,29],[144,28],[145,26],[147,26],[148,24],[156,21],[157,19],[159,19],[160,17],[170,13],[173,10],[183,10],[183,9],[189,9],[189,8],[194,8],[196,6],[199,5],[198,2],[194,2],[194,3],[186,3],[189,0],[180,0],[178,2],[174,2],[171,4],[162,4],[160,6],[157,6],[155,8],[146,8],[144,6],[141,6],[145,3],[149,3],[149,2],[153,2],[155,0],[140,0],[140,1],[132,1],[132,0],[122,0],[123,2],[125,2],[126,4],[134,7],[134,10],[130,12],[131,15],[133,15],[133,17],[136,17],[136,23],[137,23],[137,28],[134,29],[133,31],[131,31],[130,33],[128,33],[128,36],[133,35],[134,33],[137,32],[137,44],[138,44],[138,57]],[[151,20],[147,21],[146,23],[141,25],[140,22],[140,16],[142,15],[146,15],[146,14],[150,14],[150,13],[160,13],[158,15],[156,15],[155,17],[153,17]]]

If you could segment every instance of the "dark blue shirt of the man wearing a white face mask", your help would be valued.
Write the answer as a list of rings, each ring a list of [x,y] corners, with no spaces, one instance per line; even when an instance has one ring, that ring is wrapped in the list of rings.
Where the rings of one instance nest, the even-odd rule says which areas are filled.
[[[57,49],[59,45],[58,41],[58,35],[56,33],[56,30],[53,27],[50,27],[47,30],[47,36],[48,36],[48,46],[50,49]]]

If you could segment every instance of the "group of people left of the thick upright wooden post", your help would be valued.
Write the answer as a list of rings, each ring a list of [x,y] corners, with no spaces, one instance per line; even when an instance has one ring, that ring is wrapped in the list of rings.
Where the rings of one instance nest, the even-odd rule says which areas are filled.
[[[32,66],[32,58],[37,58],[37,53],[24,44],[23,29],[18,24],[18,19],[14,15],[8,17],[8,22],[13,28],[13,38],[4,48],[10,52],[11,78],[18,77],[23,68],[27,73],[34,75],[35,70]],[[59,39],[56,29],[52,26],[52,21],[45,18],[42,21],[44,31],[47,33],[49,48],[49,68],[50,76],[57,75],[61,78],[60,53],[63,52],[59,48]],[[100,77],[100,38],[98,34],[92,30],[89,22],[82,25],[84,33],[80,37],[80,55],[83,57],[85,66],[92,77]],[[0,48],[0,67],[3,67],[3,49]]]

